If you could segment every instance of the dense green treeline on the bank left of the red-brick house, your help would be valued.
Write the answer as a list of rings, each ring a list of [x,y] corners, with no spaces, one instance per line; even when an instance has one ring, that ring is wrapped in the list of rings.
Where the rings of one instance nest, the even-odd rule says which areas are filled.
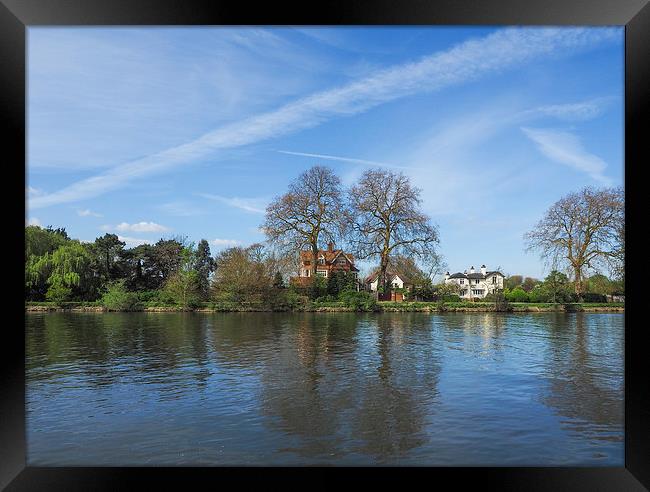
[[[160,239],[127,248],[115,234],[92,243],[68,236],[63,228],[25,228],[25,299],[100,302],[111,310],[201,305],[222,309],[289,310],[313,300],[342,301],[372,309],[374,299],[357,292],[355,278],[335,273],[311,286],[287,286],[294,258],[262,244],[232,247],[211,255],[208,241]]]

